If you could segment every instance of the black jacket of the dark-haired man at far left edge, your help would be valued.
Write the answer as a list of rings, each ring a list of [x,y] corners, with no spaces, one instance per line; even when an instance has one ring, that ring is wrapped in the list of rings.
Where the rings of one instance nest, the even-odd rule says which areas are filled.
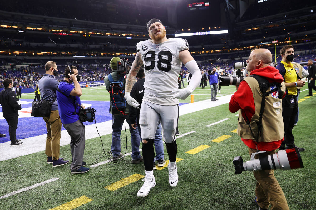
[[[21,105],[18,104],[18,101],[19,99],[16,98],[16,94],[11,88],[4,88],[0,92],[0,104],[4,118],[19,116],[18,110],[21,110]]]

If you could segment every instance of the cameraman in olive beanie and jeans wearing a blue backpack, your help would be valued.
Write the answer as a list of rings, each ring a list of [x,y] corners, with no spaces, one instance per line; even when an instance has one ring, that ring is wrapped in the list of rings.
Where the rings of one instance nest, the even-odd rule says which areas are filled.
[[[112,72],[104,78],[104,83],[107,91],[112,91],[110,89],[111,82],[109,81],[109,76],[112,77],[113,81],[120,81],[123,80],[123,88],[125,89],[125,73],[122,75],[118,73],[118,66],[117,61],[119,61],[119,57],[114,57],[110,61],[110,66],[112,68]],[[122,78],[124,77],[124,78]],[[114,93],[113,93],[114,94]],[[123,96],[124,99],[124,96]],[[112,100],[112,99],[111,99]],[[124,99],[125,100],[125,99]],[[111,145],[111,152],[113,155],[112,160],[118,160],[120,157],[123,156],[121,153],[121,131],[123,127],[123,123],[126,119],[127,123],[131,125],[130,117],[129,117],[129,105],[125,102],[124,107],[119,107],[115,105],[114,108],[112,107],[115,101],[111,101],[110,104],[110,114],[112,114],[112,145]],[[124,114],[123,114],[123,113]],[[132,163],[139,163],[143,161],[143,157],[140,155],[139,145],[140,145],[140,137],[137,128],[132,128],[130,126],[130,133],[131,133],[131,145],[132,145]],[[138,146],[137,146],[138,145]]]

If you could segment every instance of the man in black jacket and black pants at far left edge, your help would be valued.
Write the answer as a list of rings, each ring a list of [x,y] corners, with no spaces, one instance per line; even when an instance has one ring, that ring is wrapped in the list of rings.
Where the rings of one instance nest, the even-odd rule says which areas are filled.
[[[16,128],[18,128],[18,110],[21,110],[21,103],[16,98],[15,92],[12,91],[12,80],[5,79],[3,85],[4,89],[0,92],[0,104],[3,117],[9,125],[11,146],[21,145],[23,142],[19,142],[20,140],[17,140],[15,135]]]

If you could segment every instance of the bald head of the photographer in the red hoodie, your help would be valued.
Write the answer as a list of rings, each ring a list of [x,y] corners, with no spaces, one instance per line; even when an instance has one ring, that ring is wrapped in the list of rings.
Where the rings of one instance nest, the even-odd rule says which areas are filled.
[[[270,66],[272,62],[272,54],[268,49],[258,48],[250,53],[249,58],[246,62],[247,71],[264,68]]]

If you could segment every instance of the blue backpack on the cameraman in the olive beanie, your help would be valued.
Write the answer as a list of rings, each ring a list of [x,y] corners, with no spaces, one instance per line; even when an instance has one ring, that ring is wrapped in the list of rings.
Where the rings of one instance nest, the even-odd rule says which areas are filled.
[[[124,77],[121,76],[119,81],[114,81],[111,74],[109,74],[107,77],[110,82],[109,93],[112,108],[111,114],[124,114],[126,108],[126,100],[124,98]]]

